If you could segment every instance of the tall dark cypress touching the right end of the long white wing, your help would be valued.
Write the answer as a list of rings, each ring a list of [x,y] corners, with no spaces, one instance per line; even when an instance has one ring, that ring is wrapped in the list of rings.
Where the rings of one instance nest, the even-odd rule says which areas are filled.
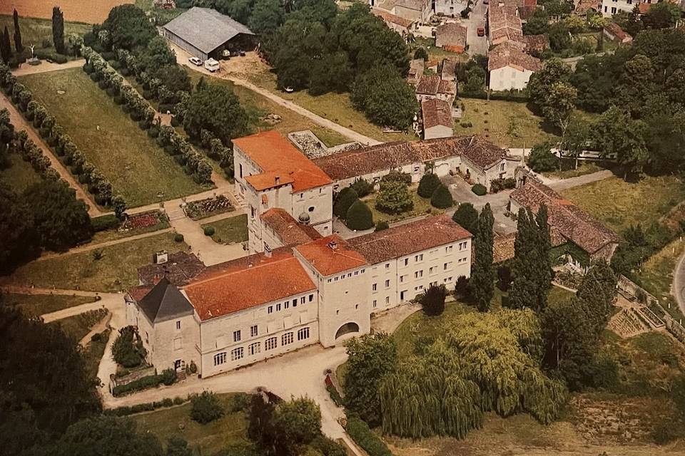
[[[494,293],[494,268],[492,267],[492,245],[494,233],[492,225],[492,209],[490,204],[485,204],[480,217],[478,217],[478,234],[474,241],[475,260],[473,262],[470,284],[473,290],[473,299],[481,312],[490,308],[492,294]]]

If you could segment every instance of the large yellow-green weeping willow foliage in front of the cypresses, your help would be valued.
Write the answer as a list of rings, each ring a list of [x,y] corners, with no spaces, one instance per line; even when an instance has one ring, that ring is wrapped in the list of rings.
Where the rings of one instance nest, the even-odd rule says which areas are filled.
[[[559,416],[563,383],[539,368],[542,338],[532,311],[459,316],[452,330],[421,347],[380,385],[383,432],[402,437],[465,437],[483,413]]]

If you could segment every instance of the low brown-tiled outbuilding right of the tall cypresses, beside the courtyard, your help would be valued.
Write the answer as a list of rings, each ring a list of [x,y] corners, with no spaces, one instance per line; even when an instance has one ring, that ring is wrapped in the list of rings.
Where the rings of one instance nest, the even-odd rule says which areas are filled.
[[[521,207],[537,213],[541,204],[547,206],[554,257],[582,272],[593,261],[611,261],[619,245],[618,235],[547,185],[526,177],[509,195],[512,214]]]

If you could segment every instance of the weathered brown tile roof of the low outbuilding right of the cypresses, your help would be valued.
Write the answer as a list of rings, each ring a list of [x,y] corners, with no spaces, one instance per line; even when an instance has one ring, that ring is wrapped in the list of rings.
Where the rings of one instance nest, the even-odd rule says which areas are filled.
[[[553,237],[557,237],[555,244],[559,242],[559,235],[561,235],[585,252],[594,254],[607,244],[619,242],[619,237],[611,229],[572,202],[562,198],[547,185],[528,180],[523,187],[514,190],[509,197],[524,207],[530,207],[533,212],[537,212],[540,204],[547,205],[548,222],[552,227],[550,233],[554,235]]]

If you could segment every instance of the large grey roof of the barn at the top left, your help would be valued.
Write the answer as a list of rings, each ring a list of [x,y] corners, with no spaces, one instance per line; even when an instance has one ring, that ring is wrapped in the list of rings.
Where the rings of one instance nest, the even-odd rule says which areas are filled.
[[[198,6],[193,6],[163,27],[204,53],[210,53],[239,33],[254,35],[249,28],[215,9]]]

